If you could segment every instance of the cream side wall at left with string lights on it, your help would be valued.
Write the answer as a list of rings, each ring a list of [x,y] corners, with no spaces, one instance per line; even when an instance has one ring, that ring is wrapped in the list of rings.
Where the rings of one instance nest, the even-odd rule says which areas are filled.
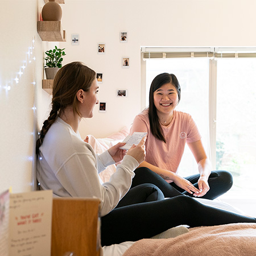
[[[36,94],[43,105],[48,97],[43,97],[40,89],[43,51],[36,31],[39,3],[0,0],[0,5],[0,188],[31,191]]]

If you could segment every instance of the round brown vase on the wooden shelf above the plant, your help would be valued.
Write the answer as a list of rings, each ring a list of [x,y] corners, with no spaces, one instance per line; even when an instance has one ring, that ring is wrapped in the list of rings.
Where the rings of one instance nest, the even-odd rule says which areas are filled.
[[[55,0],[49,0],[43,6],[42,9],[42,18],[44,21],[60,21],[62,17],[62,9],[59,3],[56,3]]]

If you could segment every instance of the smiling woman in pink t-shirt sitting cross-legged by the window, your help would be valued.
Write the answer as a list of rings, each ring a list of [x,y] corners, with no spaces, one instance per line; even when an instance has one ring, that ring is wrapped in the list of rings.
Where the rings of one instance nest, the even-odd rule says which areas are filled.
[[[147,132],[146,159],[139,166],[146,168],[135,171],[133,186],[152,183],[166,197],[189,195],[215,199],[232,187],[232,175],[211,170],[191,115],[175,110],[180,96],[175,75],[162,73],[152,81],[149,107],[135,117],[130,132]],[[177,174],[177,168],[186,143],[195,156],[199,174],[184,178]]]

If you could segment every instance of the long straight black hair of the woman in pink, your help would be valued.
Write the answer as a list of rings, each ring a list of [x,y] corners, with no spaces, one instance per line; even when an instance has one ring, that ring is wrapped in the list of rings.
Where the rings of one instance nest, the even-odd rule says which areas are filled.
[[[156,112],[156,107],[154,104],[154,92],[158,90],[164,84],[171,83],[175,86],[178,94],[178,103],[180,102],[180,84],[177,77],[174,74],[162,73],[154,78],[150,86],[150,96],[149,96],[149,106],[148,106],[148,118],[150,121],[150,130],[155,138],[166,143],[166,138],[164,138],[162,128],[160,126],[160,121],[158,114]]]

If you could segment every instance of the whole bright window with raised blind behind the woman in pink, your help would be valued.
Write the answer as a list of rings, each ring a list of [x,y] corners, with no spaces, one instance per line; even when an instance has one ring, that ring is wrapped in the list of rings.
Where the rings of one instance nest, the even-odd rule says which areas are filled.
[[[192,115],[213,169],[232,173],[234,185],[229,195],[248,197],[256,190],[255,54],[238,54],[233,49],[219,52],[217,48],[195,54],[188,49],[150,51],[144,50],[142,55],[146,61],[146,106],[152,79],[159,73],[174,73],[181,85],[177,110]],[[198,172],[188,148],[179,171],[182,176]]]

